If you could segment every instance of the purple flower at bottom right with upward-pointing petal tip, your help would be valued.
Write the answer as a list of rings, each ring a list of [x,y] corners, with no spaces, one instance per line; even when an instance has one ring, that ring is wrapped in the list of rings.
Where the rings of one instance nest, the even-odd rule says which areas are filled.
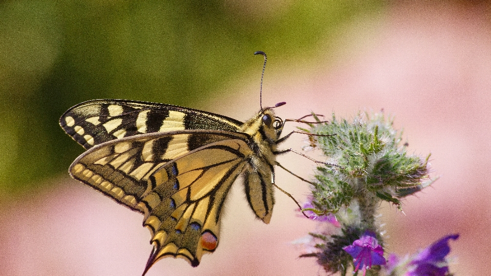
[[[423,249],[409,263],[413,266],[407,273],[408,276],[444,276],[449,271],[445,256],[450,252],[449,240],[456,240],[458,234],[448,235]]]

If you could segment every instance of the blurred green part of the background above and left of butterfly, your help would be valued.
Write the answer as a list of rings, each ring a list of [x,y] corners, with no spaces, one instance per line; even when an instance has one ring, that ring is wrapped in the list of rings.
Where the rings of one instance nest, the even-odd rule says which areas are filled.
[[[1,1],[0,195],[28,193],[66,172],[82,149],[57,122],[77,103],[109,98],[204,107],[231,81],[260,73],[255,51],[274,57],[277,68],[307,64],[329,51],[346,21],[376,16],[383,7],[380,1]]]

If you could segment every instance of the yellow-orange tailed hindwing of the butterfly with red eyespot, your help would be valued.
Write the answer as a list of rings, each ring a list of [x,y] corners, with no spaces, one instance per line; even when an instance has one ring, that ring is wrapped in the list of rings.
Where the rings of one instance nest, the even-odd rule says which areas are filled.
[[[150,176],[152,191],[144,225],[154,251],[147,268],[166,256],[185,257],[197,266],[218,245],[220,212],[234,180],[248,166],[244,140],[230,139],[198,148]]]

